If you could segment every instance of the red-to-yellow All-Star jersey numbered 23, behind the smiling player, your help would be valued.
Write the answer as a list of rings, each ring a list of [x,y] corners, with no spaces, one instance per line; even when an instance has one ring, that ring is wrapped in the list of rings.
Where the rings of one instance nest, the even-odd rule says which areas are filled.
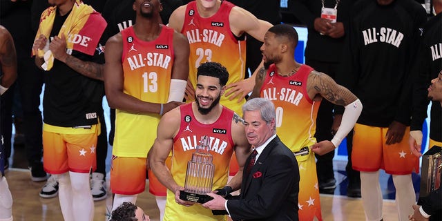
[[[222,1],[215,15],[203,18],[199,15],[195,1],[187,4],[181,33],[189,40],[189,80],[196,86],[196,73],[200,64],[214,61],[222,64],[229,71],[227,84],[244,79],[246,62],[246,42],[244,37],[236,37],[230,29],[229,14],[234,7],[228,1]],[[227,92],[227,91],[226,91]],[[221,104],[242,115],[242,104],[238,99],[229,101],[221,97]]]

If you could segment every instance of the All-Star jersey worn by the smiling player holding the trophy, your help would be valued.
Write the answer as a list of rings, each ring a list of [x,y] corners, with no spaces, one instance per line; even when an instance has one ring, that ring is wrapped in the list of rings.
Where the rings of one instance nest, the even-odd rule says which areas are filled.
[[[173,180],[178,185],[184,186],[186,181],[186,169],[195,148],[199,144],[201,137],[209,137],[209,147],[213,155],[212,190],[220,189],[227,184],[229,177],[229,162],[233,153],[233,140],[231,136],[231,124],[233,111],[223,106],[222,113],[213,124],[202,124],[193,115],[192,103],[180,106],[181,124],[180,131],[173,138],[172,167]],[[164,220],[224,220],[222,215],[212,215],[211,210],[205,209],[201,204],[193,206],[182,206],[175,202],[175,195],[168,190],[166,211]]]

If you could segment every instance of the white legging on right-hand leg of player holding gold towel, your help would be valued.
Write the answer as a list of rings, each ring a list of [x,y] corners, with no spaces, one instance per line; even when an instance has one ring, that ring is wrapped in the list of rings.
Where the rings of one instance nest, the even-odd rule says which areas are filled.
[[[94,202],[90,193],[89,173],[69,172],[72,186],[72,203],[76,221],[92,221],[94,218]]]

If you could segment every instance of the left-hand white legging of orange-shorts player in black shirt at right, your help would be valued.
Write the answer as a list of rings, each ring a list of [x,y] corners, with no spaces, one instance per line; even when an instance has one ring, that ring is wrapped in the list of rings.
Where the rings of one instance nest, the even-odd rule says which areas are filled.
[[[361,172],[361,198],[365,210],[365,220],[381,220],[383,199],[381,184],[379,184],[379,171]]]

